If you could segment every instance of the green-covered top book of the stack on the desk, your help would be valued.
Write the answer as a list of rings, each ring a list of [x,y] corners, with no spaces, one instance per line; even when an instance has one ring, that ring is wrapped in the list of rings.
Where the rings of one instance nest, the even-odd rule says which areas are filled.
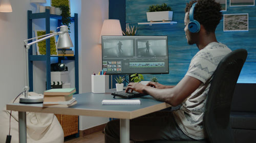
[[[65,96],[71,95],[76,92],[76,88],[68,88],[68,89],[51,89],[44,92],[45,96],[53,95],[53,96]]]

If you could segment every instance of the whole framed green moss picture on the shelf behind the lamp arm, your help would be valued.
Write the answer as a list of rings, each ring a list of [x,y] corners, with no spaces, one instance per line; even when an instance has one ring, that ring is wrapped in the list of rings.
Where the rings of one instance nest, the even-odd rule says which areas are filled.
[[[50,31],[50,33],[54,33],[54,31]],[[45,30],[35,30],[35,37],[42,36],[45,34],[46,34]],[[36,38],[36,40],[38,39],[40,38]],[[37,51],[37,55],[46,54],[46,40],[36,43],[36,51]],[[55,36],[50,38],[50,52],[51,52],[50,55],[58,55]]]

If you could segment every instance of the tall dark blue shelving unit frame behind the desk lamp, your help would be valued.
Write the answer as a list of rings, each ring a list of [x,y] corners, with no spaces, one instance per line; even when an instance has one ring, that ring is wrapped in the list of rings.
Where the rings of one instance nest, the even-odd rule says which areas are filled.
[[[43,13],[32,13],[28,11],[28,39],[32,38],[32,20],[45,19],[46,34],[50,33],[50,19],[57,19],[57,25],[61,25],[61,16],[50,14],[50,10],[46,9]],[[62,60],[75,61],[75,88],[76,93],[79,93],[79,77],[78,77],[78,14],[75,13],[71,17],[71,22],[74,22],[74,56],[51,56],[50,55],[50,39],[46,40],[46,55],[33,55],[32,48],[29,49],[29,91],[33,91],[33,61],[46,61],[46,89],[51,89],[51,57],[57,57],[58,62]],[[31,42],[31,41],[28,41]]]

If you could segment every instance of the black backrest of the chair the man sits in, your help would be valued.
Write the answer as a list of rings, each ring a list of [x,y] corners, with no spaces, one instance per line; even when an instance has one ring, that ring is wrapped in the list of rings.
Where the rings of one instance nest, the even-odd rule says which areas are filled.
[[[227,54],[212,77],[204,112],[204,127],[211,143],[234,142],[229,123],[231,100],[247,57],[245,49]]]

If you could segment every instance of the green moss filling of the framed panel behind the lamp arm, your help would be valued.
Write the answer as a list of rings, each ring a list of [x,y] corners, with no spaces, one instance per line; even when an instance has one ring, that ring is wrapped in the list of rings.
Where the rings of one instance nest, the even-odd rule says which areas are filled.
[[[53,33],[53,32],[50,31],[50,33]],[[45,35],[45,34],[46,34],[45,31],[37,31],[37,36],[42,36],[42,35]],[[44,37],[40,37],[38,39],[41,39],[41,38],[44,38]],[[39,47],[39,53],[40,54],[46,54],[46,40],[40,41],[37,44],[38,44],[38,47]],[[57,54],[56,44],[55,44],[55,37],[50,38],[50,54],[51,55],[54,55],[54,54],[56,55]]]

